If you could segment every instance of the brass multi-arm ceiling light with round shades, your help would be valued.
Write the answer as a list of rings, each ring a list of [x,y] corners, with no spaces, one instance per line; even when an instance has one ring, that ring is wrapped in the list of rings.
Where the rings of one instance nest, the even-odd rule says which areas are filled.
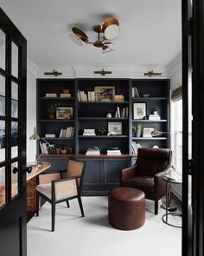
[[[88,36],[80,29],[73,27],[72,30],[73,34],[70,34],[69,37],[74,43],[79,46],[91,43],[94,47],[101,48],[103,50],[102,53],[115,50],[109,46],[113,44],[109,41],[118,37],[120,32],[118,19],[115,17],[108,17],[100,25],[93,27],[93,31],[98,33],[98,39],[95,42],[89,42]]]

